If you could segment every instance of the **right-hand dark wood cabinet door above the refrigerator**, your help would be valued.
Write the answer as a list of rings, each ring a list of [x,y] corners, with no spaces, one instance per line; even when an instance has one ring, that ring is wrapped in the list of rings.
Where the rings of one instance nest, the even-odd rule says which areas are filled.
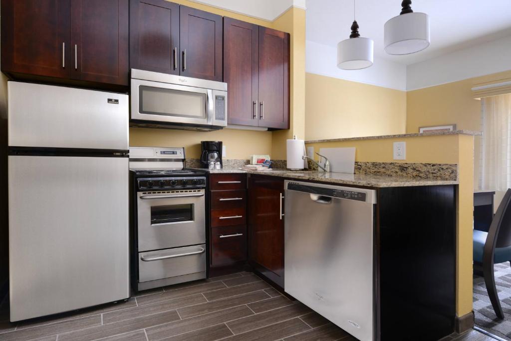
[[[128,85],[128,0],[71,0],[74,79]]]

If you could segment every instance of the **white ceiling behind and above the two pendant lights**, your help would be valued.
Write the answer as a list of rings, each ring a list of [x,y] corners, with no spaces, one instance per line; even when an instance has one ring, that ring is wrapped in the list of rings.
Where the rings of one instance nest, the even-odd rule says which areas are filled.
[[[356,0],[362,37],[375,41],[375,56],[413,64],[511,35],[510,0],[415,0],[415,12],[429,14],[431,44],[421,52],[390,56],[383,51],[383,25],[401,11],[401,0]],[[350,36],[353,0],[307,0],[307,40],[337,46]]]

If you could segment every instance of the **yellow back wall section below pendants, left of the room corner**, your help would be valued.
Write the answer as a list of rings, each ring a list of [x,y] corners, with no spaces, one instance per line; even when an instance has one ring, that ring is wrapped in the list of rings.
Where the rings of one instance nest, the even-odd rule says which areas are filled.
[[[306,140],[402,134],[406,92],[306,74]]]

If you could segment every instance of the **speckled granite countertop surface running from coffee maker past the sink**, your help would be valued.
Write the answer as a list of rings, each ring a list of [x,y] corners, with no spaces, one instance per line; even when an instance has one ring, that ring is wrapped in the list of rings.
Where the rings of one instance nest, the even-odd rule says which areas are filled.
[[[203,169],[204,170],[204,169]],[[286,177],[297,180],[321,181],[339,185],[356,185],[367,187],[410,187],[410,186],[437,186],[437,185],[457,185],[458,181],[424,179],[404,176],[387,176],[373,174],[347,174],[347,173],[321,173],[317,171],[290,171],[285,169],[275,169],[271,171],[246,171],[239,168],[223,168],[220,170],[209,170],[210,174],[228,174],[228,173],[249,173],[259,175],[270,175]]]

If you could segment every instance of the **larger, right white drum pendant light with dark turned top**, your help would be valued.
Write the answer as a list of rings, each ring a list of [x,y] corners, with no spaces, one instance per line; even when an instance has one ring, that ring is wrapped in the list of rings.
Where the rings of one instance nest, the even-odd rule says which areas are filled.
[[[385,22],[383,40],[390,55],[407,55],[429,46],[429,17],[413,12],[411,4],[411,0],[404,0],[400,15]]]

